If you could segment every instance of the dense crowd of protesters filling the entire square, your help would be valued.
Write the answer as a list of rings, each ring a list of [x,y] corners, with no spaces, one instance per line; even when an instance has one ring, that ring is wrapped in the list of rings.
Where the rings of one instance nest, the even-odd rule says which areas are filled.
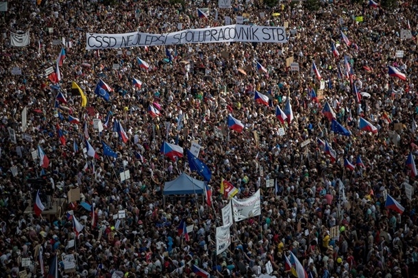
[[[287,267],[291,253],[308,277],[417,277],[417,2],[265,2],[233,0],[219,9],[210,0],[8,1],[0,22],[1,277],[55,270],[60,277],[205,276],[196,269],[220,278],[297,277],[296,266]],[[207,8],[208,18],[197,8]],[[86,51],[88,32],[165,34],[221,26],[225,16],[234,23],[243,14],[244,24],[286,27],[288,41]],[[19,30],[30,33],[26,47],[10,45],[10,32]],[[55,83],[45,70],[56,71],[62,48]],[[389,75],[388,66],[406,80]],[[95,94],[99,79],[112,89],[108,101]],[[256,92],[269,105],[254,101]],[[282,122],[276,106],[286,110],[287,103],[293,119]],[[326,103],[350,136],[332,131]],[[150,105],[160,114],[150,114]],[[242,132],[228,128],[228,115],[243,123]],[[377,132],[362,130],[360,118]],[[93,150],[86,153],[87,134]],[[102,141],[117,158],[103,154]],[[163,142],[201,146],[212,205],[195,194],[163,202],[164,182],[181,173],[201,179],[186,155],[164,156]],[[48,167],[40,166],[42,152]],[[126,170],[130,178],[121,181]],[[261,214],[234,223],[231,246],[217,255],[215,230],[228,203],[221,179],[238,189],[236,199],[260,189]],[[266,186],[270,179],[275,186]],[[79,200],[47,214],[77,188]],[[37,196],[45,205],[40,216],[32,210]],[[388,197],[395,210],[385,205]],[[123,210],[120,221],[114,216]],[[188,239],[178,232],[182,220],[193,227]]]

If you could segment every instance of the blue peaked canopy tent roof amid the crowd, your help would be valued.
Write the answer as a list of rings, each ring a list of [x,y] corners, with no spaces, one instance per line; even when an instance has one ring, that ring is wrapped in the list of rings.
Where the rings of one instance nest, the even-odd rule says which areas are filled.
[[[164,184],[164,195],[204,194],[205,182],[182,173],[177,179]]]

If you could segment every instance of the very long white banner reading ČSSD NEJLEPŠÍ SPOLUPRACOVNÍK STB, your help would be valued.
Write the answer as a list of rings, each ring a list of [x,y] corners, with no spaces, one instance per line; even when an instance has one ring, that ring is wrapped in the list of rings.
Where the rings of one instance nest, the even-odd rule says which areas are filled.
[[[168,34],[132,32],[126,34],[86,34],[86,49],[118,49],[158,45],[213,42],[286,42],[284,27],[229,25],[185,29]]]

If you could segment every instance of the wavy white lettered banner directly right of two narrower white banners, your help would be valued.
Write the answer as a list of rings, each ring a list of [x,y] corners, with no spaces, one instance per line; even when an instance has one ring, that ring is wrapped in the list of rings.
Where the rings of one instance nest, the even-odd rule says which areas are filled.
[[[232,210],[235,222],[261,214],[260,190],[247,199],[232,199]]]

